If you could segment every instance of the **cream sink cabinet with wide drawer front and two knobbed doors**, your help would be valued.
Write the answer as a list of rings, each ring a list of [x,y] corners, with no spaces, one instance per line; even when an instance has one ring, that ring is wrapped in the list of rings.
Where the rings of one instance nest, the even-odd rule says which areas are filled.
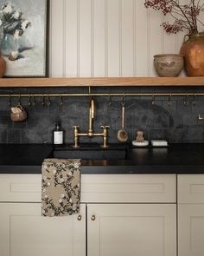
[[[81,175],[80,214],[48,218],[41,175],[1,174],[0,255],[176,256],[175,192],[175,175]]]

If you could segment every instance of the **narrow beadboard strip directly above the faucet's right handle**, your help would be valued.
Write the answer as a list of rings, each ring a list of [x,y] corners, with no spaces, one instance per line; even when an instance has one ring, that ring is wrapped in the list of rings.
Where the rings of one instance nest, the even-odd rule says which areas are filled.
[[[108,76],[108,0],[105,0],[105,76]]]

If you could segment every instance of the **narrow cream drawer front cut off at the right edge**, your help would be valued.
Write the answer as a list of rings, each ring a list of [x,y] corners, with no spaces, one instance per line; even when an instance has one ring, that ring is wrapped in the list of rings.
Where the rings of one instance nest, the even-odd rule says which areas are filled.
[[[178,203],[204,203],[204,174],[178,175]]]

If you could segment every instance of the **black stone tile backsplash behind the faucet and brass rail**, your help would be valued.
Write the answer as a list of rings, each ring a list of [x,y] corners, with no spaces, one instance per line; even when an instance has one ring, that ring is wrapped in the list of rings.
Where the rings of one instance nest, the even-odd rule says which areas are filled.
[[[92,92],[203,92],[201,88],[99,88]],[[41,93],[87,93],[87,88],[55,88],[55,89],[0,89],[5,94]],[[108,97],[95,97],[94,131],[101,131],[100,125],[109,125],[109,142],[119,142],[118,129],[121,128],[121,101],[122,97],[111,97],[111,106]],[[45,96],[46,103],[48,98]],[[65,130],[67,143],[73,142],[73,125],[79,125],[80,131],[86,132],[88,128],[89,97],[64,97],[63,108],[60,108],[60,97],[51,97],[51,105],[43,107],[42,99],[36,98],[36,106],[29,107],[29,99],[22,98],[22,106],[27,109],[29,118],[22,123],[10,120],[10,107],[8,98],[0,98],[0,143],[52,143],[54,121],[61,121]],[[196,104],[193,98],[188,98],[185,105],[184,96],[172,96],[171,106],[168,97],[148,96],[125,97],[125,129],[129,134],[129,141],[135,139],[137,130],[143,130],[145,139],[165,139],[170,142],[204,142],[204,121],[198,120],[199,114],[204,114],[204,97],[198,96]],[[18,98],[12,98],[15,106]],[[81,142],[102,142],[102,138],[81,138]]]

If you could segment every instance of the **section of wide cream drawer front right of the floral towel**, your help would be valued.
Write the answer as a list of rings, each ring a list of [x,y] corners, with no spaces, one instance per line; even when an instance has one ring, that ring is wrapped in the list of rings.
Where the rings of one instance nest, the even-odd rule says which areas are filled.
[[[82,177],[82,202],[175,202],[175,175],[92,174]]]

